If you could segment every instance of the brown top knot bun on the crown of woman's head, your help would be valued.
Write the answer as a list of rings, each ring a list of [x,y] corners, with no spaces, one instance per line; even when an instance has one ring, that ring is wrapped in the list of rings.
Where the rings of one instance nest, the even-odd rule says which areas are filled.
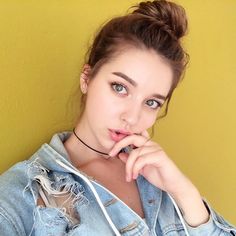
[[[133,11],[133,14],[142,14],[151,17],[166,32],[177,40],[183,37],[187,31],[187,17],[184,8],[165,0],[141,2]]]

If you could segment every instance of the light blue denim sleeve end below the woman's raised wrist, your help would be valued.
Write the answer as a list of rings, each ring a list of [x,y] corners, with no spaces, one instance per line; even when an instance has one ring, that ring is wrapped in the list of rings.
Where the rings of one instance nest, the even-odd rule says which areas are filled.
[[[187,230],[191,236],[236,236],[236,227],[228,223],[222,216],[214,211],[204,199],[204,204],[210,213],[208,222],[191,227],[186,223]]]

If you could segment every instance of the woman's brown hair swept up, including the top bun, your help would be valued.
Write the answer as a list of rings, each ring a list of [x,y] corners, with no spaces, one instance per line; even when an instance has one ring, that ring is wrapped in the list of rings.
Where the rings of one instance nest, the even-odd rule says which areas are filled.
[[[165,116],[172,93],[188,61],[188,55],[180,42],[187,30],[185,10],[165,0],[141,2],[132,8],[134,10],[130,14],[113,18],[101,28],[89,48],[86,63],[91,66],[90,76],[93,77],[122,45],[155,50],[169,63],[174,75]],[[82,106],[84,99],[82,95]]]

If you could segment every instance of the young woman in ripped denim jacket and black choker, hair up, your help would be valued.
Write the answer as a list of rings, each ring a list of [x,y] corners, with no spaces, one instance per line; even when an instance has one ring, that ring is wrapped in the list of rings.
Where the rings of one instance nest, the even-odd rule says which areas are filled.
[[[103,26],[73,132],[0,178],[1,235],[236,235],[147,132],[185,69],[186,28],[164,0]]]

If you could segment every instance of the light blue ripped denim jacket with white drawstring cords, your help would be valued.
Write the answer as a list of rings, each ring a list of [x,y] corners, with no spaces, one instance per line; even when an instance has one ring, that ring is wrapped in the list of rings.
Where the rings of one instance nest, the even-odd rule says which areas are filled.
[[[96,180],[75,169],[63,146],[71,133],[53,136],[27,161],[20,162],[0,177],[1,236],[60,235],[149,235],[149,236],[223,236],[236,235],[205,201],[210,220],[190,227],[177,214],[169,195],[142,176],[137,186],[145,220]],[[37,205],[39,189],[70,194],[73,221],[63,207]],[[186,231],[188,233],[186,233]]]

